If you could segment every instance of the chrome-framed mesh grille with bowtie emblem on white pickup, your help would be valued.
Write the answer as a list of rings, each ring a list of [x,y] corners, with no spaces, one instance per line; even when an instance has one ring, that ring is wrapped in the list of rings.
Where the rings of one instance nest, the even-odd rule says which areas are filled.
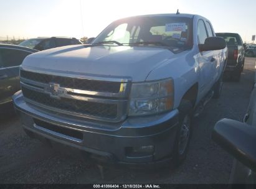
[[[99,121],[126,118],[130,80],[92,80],[21,70],[21,89],[27,103],[51,112]],[[116,78],[115,78],[116,80]]]

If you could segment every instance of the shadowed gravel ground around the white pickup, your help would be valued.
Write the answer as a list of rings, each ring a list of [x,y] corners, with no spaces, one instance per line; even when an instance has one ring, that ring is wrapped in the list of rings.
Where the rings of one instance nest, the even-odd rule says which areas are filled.
[[[232,157],[211,141],[221,118],[242,121],[254,81],[256,58],[247,58],[239,83],[226,81],[220,99],[212,99],[194,121],[187,160],[175,170],[104,168],[76,150],[60,145],[49,148],[24,134],[19,118],[0,117],[0,183],[227,183]]]

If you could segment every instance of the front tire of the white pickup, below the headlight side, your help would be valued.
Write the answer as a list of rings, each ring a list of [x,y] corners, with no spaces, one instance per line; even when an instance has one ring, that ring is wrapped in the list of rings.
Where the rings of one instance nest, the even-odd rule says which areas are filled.
[[[186,104],[186,108],[181,109],[181,106],[179,108],[179,129],[176,134],[173,152],[174,167],[178,167],[186,159],[192,134],[192,104],[190,101],[184,101],[183,104]]]

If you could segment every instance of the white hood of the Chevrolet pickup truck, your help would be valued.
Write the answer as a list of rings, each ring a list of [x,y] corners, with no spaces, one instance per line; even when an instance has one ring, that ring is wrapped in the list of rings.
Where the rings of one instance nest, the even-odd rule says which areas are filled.
[[[145,81],[150,71],[175,55],[166,48],[116,45],[71,45],[34,53],[22,68],[55,72],[130,77]]]

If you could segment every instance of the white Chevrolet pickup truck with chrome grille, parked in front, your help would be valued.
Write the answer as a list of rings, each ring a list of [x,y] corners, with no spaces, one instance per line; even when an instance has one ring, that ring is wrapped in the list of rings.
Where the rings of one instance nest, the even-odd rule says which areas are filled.
[[[31,137],[103,162],[178,165],[192,116],[220,95],[226,60],[224,39],[204,17],[128,17],[92,44],[26,57],[13,99]]]

